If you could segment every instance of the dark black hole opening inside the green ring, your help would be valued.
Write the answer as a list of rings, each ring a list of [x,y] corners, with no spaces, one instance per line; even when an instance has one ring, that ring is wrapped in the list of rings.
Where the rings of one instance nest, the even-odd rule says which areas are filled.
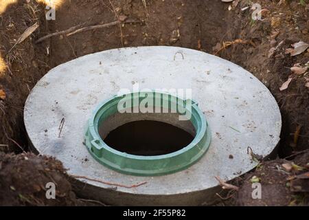
[[[164,155],[184,148],[194,137],[172,124],[153,120],[139,120],[117,127],[108,133],[104,142],[133,155]]]

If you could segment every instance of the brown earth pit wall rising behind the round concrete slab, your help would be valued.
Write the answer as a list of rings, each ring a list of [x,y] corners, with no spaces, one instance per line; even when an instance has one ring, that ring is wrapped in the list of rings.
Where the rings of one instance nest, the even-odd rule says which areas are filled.
[[[232,42],[231,45],[216,55],[249,70],[277,99],[283,119],[279,155],[284,157],[292,151],[308,148],[306,79],[299,76],[288,89],[279,91],[290,75],[289,68],[308,61],[308,52],[294,57],[284,54],[291,43],[309,42],[307,6],[297,1],[279,6],[277,1],[257,1],[268,12],[263,14],[263,21],[252,22],[252,11],[240,10],[247,6],[247,1],[240,1],[231,10],[228,10],[229,4],[211,0],[149,0],[146,5],[139,0],[57,1],[56,20],[46,21],[44,1],[40,2],[16,0],[1,10],[0,89],[5,94],[0,100],[1,151],[27,150],[23,126],[25,99],[36,82],[61,63],[102,50],[142,45],[174,45],[215,54],[227,41]],[[115,25],[73,36],[60,35],[34,43],[41,36],[80,23],[84,26],[109,23],[124,16],[140,23]],[[36,32],[10,51],[19,36],[36,22],[39,24]],[[279,34],[274,39],[275,32]],[[280,50],[268,56],[271,47],[280,42]],[[297,142],[295,133],[299,133]]]

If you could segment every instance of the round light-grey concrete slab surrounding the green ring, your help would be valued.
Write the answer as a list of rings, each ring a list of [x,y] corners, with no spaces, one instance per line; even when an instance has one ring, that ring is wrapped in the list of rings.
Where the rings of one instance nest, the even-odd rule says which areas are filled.
[[[106,168],[89,155],[83,140],[92,111],[137,83],[139,89],[192,89],[211,127],[209,150],[196,164],[170,175],[136,177]],[[198,192],[217,186],[215,176],[229,180],[246,173],[257,165],[247,148],[269,155],[282,126],[270,91],[242,67],[204,52],[161,46],[108,50],[55,67],[27,98],[24,118],[34,148],[59,159],[69,174],[124,185],[147,181],[114,189],[133,196]]]

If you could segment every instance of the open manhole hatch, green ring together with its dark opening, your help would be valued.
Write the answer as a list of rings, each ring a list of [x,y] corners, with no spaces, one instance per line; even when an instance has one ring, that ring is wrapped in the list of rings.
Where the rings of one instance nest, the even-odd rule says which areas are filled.
[[[152,105],[141,112],[144,100]],[[117,125],[122,126],[115,129]],[[195,137],[190,140],[192,135]],[[209,126],[197,103],[154,91],[116,96],[100,104],[89,120],[85,144],[91,155],[109,168],[152,176],[194,164],[207,151],[210,139]]]

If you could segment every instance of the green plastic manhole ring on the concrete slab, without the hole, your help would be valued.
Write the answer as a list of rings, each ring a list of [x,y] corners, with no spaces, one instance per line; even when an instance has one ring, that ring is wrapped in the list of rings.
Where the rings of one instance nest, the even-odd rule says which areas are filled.
[[[153,102],[156,108],[163,107],[170,110],[173,109],[174,111],[176,110],[177,113],[190,112],[191,117],[189,120],[196,131],[194,140],[179,151],[155,156],[132,155],[117,151],[108,146],[99,135],[99,126],[104,123],[104,120],[108,117],[119,112],[118,103],[120,100],[124,101],[126,99],[131,99],[131,103],[133,103],[132,106],[136,107],[136,105],[146,97],[154,99],[159,97],[159,103]],[[137,102],[134,100],[137,100]],[[176,109],[174,109],[175,107]],[[181,109],[181,111],[178,109]],[[181,113],[179,114],[181,115]],[[119,173],[137,176],[157,176],[184,170],[198,162],[198,159],[201,159],[206,153],[210,140],[211,131],[205,119],[205,115],[198,108],[196,102],[192,100],[182,100],[171,94],[157,91],[153,91],[152,93],[139,91],[122,96],[114,96],[102,102],[89,119],[84,144],[87,146],[89,153],[100,162],[100,164],[116,170]]]

